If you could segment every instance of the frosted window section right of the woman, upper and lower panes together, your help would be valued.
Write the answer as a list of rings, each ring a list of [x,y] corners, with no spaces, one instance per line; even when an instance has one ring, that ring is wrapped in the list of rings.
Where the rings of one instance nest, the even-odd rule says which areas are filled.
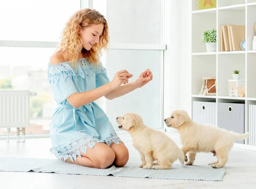
[[[143,88],[114,100],[101,98],[96,103],[115,129],[118,129],[116,117],[127,112],[137,112],[145,124],[161,128],[163,50],[158,47],[162,40],[162,1],[93,0],[93,9],[103,12],[108,21],[112,48],[102,57],[102,63],[109,79],[122,69],[134,75],[130,82],[147,68],[154,74],[154,80]]]

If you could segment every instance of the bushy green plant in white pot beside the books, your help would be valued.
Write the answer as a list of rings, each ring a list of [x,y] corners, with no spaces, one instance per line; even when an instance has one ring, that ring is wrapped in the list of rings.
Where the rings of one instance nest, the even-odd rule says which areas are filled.
[[[204,31],[202,41],[206,44],[207,52],[216,52],[216,29]]]

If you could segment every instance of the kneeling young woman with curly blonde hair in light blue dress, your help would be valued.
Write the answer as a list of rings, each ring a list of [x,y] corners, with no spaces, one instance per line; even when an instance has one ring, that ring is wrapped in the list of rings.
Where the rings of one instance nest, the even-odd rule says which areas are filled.
[[[50,57],[48,80],[58,102],[50,129],[51,152],[63,161],[102,169],[128,161],[128,149],[94,100],[120,97],[144,86],[153,75],[147,69],[128,83],[133,75],[122,70],[110,82],[99,61],[108,41],[104,16],[79,10],[68,20],[59,50]]]

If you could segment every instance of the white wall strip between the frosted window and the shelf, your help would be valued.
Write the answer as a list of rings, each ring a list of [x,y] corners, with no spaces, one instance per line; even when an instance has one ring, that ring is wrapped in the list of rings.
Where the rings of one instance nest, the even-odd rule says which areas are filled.
[[[175,109],[191,115],[191,1],[165,1],[164,117]]]

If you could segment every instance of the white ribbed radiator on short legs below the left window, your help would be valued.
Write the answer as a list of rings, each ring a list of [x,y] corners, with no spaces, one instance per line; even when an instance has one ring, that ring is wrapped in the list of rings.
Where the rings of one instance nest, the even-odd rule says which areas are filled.
[[[30,91],[0,91],[0,127],[7,128],[9,142],[10,128],[17,128],[19,141],[20,128],[25,141],[25,128],[29,126],[29,97],[36,96]]]

